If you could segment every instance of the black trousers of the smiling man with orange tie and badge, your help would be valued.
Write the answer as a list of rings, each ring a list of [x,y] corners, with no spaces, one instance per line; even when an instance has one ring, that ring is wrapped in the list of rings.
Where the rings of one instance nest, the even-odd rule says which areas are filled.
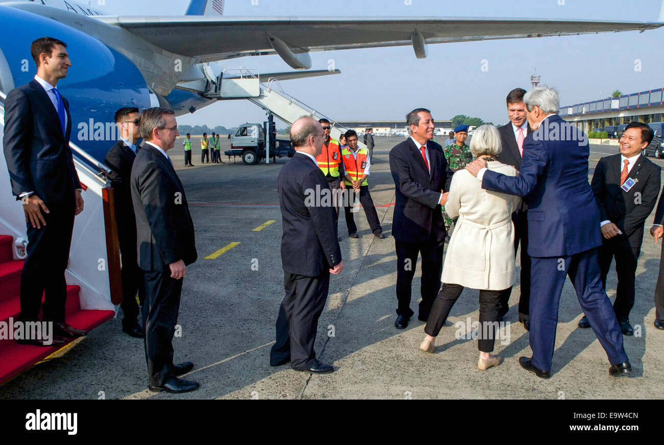
[[[602,271],[602,287],[605,290],[606,275],[609,273],[609,269],[611,269],[612,260],[616,259],[618,287],[616,288],[614,312],[616,312],[618,322],[628,321],[629,311],[634,307],[636,267],[640,254],[641,247],[623,247],[618,245],[613,238],[602,238],[598,257],[600,259],[600,271]]]

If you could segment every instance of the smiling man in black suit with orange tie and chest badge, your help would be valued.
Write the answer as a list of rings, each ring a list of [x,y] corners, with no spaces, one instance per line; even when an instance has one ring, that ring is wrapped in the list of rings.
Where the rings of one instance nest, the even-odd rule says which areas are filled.
[[[600,209],[602,247],[600,269],[602,286],[616,258],[618,288],[614,311],[623,335],[633,336],[629,311],[634,306],[636,266],[643,243],[643,225],[655,208],[661,168],[641,156],[653,139],[653,130],[645,123],[632,122],[620,138],[620,153],[600,159],[592,175],[592,192]],[[579,328],[590,328],[584,316]]]

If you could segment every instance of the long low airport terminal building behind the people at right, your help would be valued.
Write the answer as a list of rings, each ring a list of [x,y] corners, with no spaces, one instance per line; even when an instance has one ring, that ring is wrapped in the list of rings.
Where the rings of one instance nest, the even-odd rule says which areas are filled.
[[[664,114],[664,88],[623,94],[560,107],[560,117],[578,129],[592,131],[608,125],[631,122],[661,122]]]

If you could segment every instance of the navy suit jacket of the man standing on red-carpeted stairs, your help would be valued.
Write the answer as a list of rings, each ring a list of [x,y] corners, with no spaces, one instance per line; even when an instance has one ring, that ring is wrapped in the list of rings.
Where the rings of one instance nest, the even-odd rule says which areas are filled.
[[[64,97],[62,101],[67,115],[64,135],[58,111],[37,80],[7,95],[3,145],[17,199],[23,192],[35,192],[45,203],[74,200],[74,190],[81,188],[69,148],[69,103]]]

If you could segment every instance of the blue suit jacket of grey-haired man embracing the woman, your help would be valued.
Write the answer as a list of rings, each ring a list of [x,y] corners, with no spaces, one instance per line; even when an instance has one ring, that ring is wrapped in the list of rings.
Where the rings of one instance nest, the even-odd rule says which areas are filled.
[[[519,176],[484,173],[482,188],[528,197],[531,257],[574,255],[602,245],[600,212],[588,183],[587,141],[574,125],[550,115],[523,142]]]

